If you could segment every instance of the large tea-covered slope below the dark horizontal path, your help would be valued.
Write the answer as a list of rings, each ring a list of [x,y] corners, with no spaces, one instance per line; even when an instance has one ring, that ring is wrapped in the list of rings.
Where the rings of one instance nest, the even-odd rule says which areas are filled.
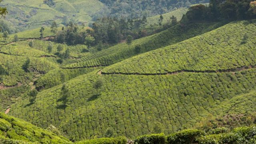
[[[255,90],[256,70],[241,72],[193,73],[176,75],[85,74],[67,82],[70,90],[68,106],[60,100],[60,86],[43,90],[30,106],[23,97],[12,106],[10,114],[47,127],[60,127],[74,140],[102,137],[113,127],[118,136],[134,137],[152,132],[153,123],[164,124],[165,133],[192,128],[208,114],[227,114],[232,106],[245,112],[253,110],[242,94]],[[101,78],[104,88],[100,96],[92,82]],[[239,96],[236,98],[236,96]],[[248,98],[248,95],[244,95]],[[240,104],[240,101],[242,102]],[[247,110],[247,109],[246,109]]]

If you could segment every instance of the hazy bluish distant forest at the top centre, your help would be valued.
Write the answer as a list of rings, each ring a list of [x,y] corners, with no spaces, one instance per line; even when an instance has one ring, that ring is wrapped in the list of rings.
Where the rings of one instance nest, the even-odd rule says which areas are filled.
[[[206,3],[209,0],[100,0],[106,4],[109,16],[130,18],[164,14],[192,4]],[[101,13],[103,14],[103,12]],[[99,14],[99,16],[101,15]],[[98,17],[97,17],[98,18]]]

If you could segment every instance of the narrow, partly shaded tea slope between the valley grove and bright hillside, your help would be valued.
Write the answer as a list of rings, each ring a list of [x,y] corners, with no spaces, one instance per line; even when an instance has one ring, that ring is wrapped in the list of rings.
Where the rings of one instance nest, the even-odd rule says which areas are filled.
[[[116,46],[112,46],[106,50],[85,56],[81,60],[78,60],[77,63],[70,64],[62,68],[109,66],[126,58],[137,55],[138,53],[134,51],[134,48],[138,44],[141,45],[140,53],[148,52],[164,46],[176,44],[177,42],[198,36],[204,32],[209,32],[210,30],[214,30],[222,25],[223,23],[178,24],[172,28],[169,28],[168,30],[164,30],[163,32],[134,40],[130,48],[126,43],[117,44]]]

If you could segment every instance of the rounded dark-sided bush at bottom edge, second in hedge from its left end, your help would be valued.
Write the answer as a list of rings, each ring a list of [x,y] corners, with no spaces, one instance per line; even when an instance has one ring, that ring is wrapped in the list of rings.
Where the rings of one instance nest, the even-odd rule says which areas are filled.
[[[167,136],[168,144],[191,144],[196,143],[196,138],[204,135],[202,130],[183,130]]]

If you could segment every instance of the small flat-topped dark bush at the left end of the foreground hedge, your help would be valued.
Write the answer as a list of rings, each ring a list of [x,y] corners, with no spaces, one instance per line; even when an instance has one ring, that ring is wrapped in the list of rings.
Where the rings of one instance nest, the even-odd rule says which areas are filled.
[[[165,144],[166,137],[164,134],[150,134],[144,136],[138,136],[134,140],[135,144]]]

